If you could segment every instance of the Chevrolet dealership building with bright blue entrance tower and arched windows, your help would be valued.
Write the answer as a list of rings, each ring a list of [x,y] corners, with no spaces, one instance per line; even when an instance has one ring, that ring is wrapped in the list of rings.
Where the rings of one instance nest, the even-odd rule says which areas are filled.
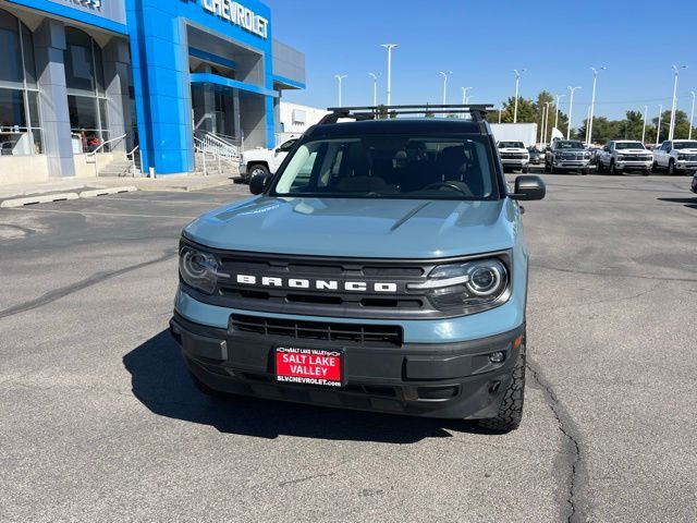
[[[0,0],[0,184],[273,147],[305,57],[272,35],[257,0]]]

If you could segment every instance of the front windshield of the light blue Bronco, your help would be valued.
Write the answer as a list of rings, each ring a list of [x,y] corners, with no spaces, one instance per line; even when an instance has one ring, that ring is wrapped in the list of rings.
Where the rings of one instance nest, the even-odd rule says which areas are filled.
[[[497,199],[486,136],[347,136],[302,144],[279,196]]]

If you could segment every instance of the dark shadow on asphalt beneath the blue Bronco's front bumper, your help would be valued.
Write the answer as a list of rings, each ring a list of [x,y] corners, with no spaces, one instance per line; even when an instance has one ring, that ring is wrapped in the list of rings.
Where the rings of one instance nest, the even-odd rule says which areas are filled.
[[[192,384],[179,345],[168,330],[126,354],[123,364],[131,373],[133,394],[152,413],[209,425],[225,434],[390,443],[452,437],[449,430],[492,434],[458,419],[376,414],[256,398],[209,398]]]

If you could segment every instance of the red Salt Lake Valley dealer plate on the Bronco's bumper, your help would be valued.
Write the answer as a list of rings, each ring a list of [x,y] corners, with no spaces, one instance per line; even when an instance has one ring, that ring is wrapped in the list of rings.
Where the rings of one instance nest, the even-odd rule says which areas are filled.
[[[341,387],[343,353],[321,349],[276,348],[276,380]]]

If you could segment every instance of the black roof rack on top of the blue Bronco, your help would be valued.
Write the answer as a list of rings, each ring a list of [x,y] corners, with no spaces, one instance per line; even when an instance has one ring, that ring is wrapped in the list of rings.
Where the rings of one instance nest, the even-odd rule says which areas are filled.
[[[466,106],[364,106],[364,107],[330,107],[331,111],[321,119],[319,125],[326,123],[337,123],[341,118],[359,120],[380,120],[396,118],[401,114],[457,114],[468,113],[475,122],[487,119],[489,111],[493,110],[490,104],[476,104]]]

